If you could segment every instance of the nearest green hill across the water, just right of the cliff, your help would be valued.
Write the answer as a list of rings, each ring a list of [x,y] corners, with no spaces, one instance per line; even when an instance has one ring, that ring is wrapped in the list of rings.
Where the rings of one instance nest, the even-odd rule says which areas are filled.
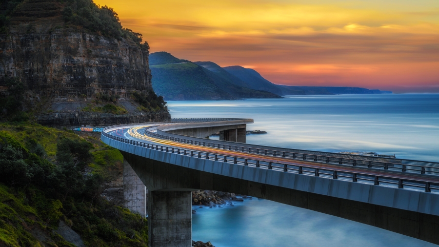
[[[218,65],[217,65],[218,66]],[[219,66],[218,66],[219,67]],[[224,77],[193,62],[180,60],[166,52],[150,55],[154,91],[165,100],[235,100],[242,98],[280,98],[235,84],[238,78]]]

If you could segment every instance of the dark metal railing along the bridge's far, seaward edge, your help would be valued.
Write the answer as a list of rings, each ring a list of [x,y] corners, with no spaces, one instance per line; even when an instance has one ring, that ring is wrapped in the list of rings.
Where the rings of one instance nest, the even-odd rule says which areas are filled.
[[[158,127],[151,126],[149,128]],[[210,142],[203,138],[178,138],[174,136],[161,135],[158,133],[153,133],[145,129],[145,134],[174,142],[188,143],[194,145],[202,145],[213,148],[228,149],[232,151],[239,151],[249,154],[259,154],[270,157],[281,157],[292,160],[302,160],[311,161],[317,163],[327,163],[336,165],[352,165],[364,168],[374,168],[382,170],[393,170],[400,172],[409,173],[419,173],[419,174],[429,174],[429,175],[439,175],[439,163],[437,162],[426,162],[417,160],[407,160],[407,159],[392,159],[392,158],[382,158],[382,157],[371,157],[363,155],[350,155],[350,154],[340,154],[340,153],[330,153],[330,152],[319,152],[319,151],[309,151],[309,150],[299,150],[292,149],[293,151],[279,151],[267,148],[254,148],[248,145],[235,144],[231,142],[223,142],[228,144],[220,144],[217,142]],[[175,135],[175,134],[174,134]],[[181,137],[186,137],[182,136]],[[198,140],[198,141],[197,141]]]

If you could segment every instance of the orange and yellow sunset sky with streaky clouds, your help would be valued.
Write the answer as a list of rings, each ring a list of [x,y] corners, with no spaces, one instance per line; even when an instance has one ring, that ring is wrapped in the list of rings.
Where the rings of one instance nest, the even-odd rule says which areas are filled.
[[[439,0],[95,0],[151,52],[284,85],[439,93]]]

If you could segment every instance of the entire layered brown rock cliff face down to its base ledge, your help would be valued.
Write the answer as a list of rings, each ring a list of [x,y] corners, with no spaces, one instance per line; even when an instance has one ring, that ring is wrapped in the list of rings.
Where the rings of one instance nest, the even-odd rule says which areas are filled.
[[[56,0],[20,5],[9,33],[0,35],[0,84],[5,75],[20,78],[29,89],[28,99],[43,102],[37,120],[46,125],[168,120],[167,111],[144,112],[130,98],[132,91],[153,90],[148,45],[66,27],[62,9]],[[127,112],[83,111],[98,94],[114,96]]]

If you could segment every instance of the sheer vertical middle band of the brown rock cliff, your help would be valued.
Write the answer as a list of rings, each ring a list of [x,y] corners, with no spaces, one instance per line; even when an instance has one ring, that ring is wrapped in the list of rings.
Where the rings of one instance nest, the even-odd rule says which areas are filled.
[[[125,96],[152,90],[148,49],[126,40],[57,29],[0,37],[2,75],[17,76],[41,97]]]

